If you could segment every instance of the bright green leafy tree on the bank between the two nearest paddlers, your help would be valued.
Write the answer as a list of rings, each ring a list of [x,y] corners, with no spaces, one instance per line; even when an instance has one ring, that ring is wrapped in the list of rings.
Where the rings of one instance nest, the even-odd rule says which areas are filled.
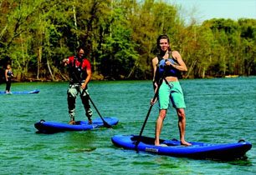
[[[127,77],[138,57],[135,50],[137,45],[131,39],[131,24],[123,18],[120,9],[113,12],[112,18],[110,35],[105,38],[105,44],[102,44],[105,54],[100,56],[101,71],[105,76]]]

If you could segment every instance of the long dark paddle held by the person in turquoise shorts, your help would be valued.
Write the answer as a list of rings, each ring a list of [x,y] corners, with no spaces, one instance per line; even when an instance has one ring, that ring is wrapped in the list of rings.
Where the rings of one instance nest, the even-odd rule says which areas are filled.
[[[154,105],[153,102],[155,102],[156,97],[157,97],[157,95],[158,95],[158,92],[159,92],[159,88],[160,88],[160,86],[161,86],[161,83],[162,83],[163,79],[165,79],[165,74],[166,74],[166,67],[164,67],[164,72],[163,72],[161,78],[159,79],[159,84],[158,84],[158,86],[156,87],[156,92],[155,92],[155,95],[154,95],[154,97],[153,97],[153,100],[152,100],[152,103],[151,103],[151,107],[149,108],[149,110],[148,110],[148,112],[147,112],[147,114],[146,114],[146,119],[145,119],[145,121],[144,121],[144,123],[143,123],[143,126],[142,126],[142,128],[141,128],[141,133],[140,133],[140,135],[139,135],[138,141],[136,142],[136,147],[135,147],[136,153],[139,153],[139,150],[137,149],[137,147],[138,147],[139,143],[141,142],[141,135],[142,135],[143,130],[144,130],[145,126],[146,126],[146,121],[147,121],[147,119],[148,119],[148,117],[149,117],[149,115],[150,115],[150,113],[151,113],[151,109],[152,109],[152,107],[153,107],[153,105]],[[166,82],[166,83],[168,83],[168,82]]]

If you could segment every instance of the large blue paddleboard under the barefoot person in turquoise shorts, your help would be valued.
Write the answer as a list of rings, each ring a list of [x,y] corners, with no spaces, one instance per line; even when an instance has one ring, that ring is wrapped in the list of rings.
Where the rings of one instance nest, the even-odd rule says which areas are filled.
[[[182,146],[179,141],[160,140],[161,146],[155,146],[155,138],[141,136],[141,142],[136,148],[139,136],[116,135],[111,138],[116,147],[136,149],[141,152],[156,153],[172,157],[200,158],[200,159],[235,159],[243,158],[252,148],[251,143],[192,143],[192,146]]]

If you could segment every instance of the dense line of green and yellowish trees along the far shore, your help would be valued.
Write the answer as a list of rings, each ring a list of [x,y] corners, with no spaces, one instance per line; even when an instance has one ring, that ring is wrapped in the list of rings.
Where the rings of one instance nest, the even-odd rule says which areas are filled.
[[[167,34],[183,77],[256,74],[256,20],[185,23],[161,0],[0,0],[0,69],[18,80],[68,80],[62,60],[86,48],[96,79],[151,79],[156,38]]]

